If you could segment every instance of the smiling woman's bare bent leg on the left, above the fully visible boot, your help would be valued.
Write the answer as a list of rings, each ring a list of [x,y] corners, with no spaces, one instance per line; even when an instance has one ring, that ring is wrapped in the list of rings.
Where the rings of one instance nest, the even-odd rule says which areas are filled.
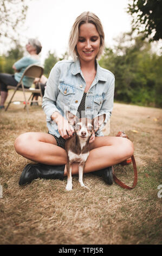
[[[66,164],[66,151],[57,146],[56,139],[43,132],[27,132],[18,136],[15,150],[23,157],[49,165]]]

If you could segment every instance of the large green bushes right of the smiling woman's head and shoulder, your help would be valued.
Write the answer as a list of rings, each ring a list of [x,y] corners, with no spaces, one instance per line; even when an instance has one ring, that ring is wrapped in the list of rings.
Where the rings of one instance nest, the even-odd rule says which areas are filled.
[[[151,52],[142,36],[124,34],[113,51],[105,49],[100,65],[115,75],[116,101],[162,107],[162,57]]]

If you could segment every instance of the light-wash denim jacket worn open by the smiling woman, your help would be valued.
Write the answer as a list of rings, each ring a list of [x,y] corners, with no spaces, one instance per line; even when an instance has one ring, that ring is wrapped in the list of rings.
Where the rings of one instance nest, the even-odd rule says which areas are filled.
[[[96,76],[87,92],[85,114],[89,118],[94,118],[105,113],[103,126],[111,117],[113,109],[114,81],[112,72],[101,68],[96,61]],[[51,120],[51,114],[57,111],[65,117],[66,111],[70,111],[76,115],[85,87],[86,82],[79,59],[76,62],[61,60],[51,69],[42,103],[49,133],[60,137],[57,124]],[[102,127],[96,136],[103,136]]]

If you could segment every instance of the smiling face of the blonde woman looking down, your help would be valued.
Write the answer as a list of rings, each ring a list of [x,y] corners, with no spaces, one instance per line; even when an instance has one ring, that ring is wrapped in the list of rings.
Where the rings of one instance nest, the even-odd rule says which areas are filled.
[[[100,50],[100,35],[92,23],[80,26],[79,40],[76,44],[80,61],[92,62]]]

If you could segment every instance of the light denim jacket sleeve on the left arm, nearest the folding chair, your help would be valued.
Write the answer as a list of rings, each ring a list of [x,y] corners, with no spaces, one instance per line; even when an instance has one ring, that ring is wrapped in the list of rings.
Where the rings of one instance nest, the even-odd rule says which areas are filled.
[[[47,121],[51,120],[51,114],[53,114],[55,111],[60,113],[56,107],[57,95],[59,94],[59,78],[60,66],[58,63],[56,63],[50,71],[42,102],[42,108],[46,114]]]

